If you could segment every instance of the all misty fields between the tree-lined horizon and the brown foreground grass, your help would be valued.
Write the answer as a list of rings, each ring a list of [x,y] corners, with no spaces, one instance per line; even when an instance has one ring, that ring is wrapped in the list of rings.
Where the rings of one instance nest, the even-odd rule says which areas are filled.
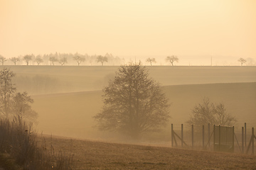
[[[16,86],[27,90],[38,112],[37,131],[48,135],[83,139],[117,140],[117,134],[100,132],[92,116],[103,106],[102,88],[114,78],[118,67],[12,66]],[[164,131],[152,136],[169,140],[170,125],[180,127],[193,107],[208,97],[223,102],[227,112],[250,128],[256,124],[255,67],[146,67],[171,103],[171,120]],[[187,128],[187,130],[189,130]]]

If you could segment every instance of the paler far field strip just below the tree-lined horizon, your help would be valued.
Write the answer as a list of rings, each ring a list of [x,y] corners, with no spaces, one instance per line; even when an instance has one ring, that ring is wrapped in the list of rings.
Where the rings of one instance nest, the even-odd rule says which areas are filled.
[[[52,94],[101,90],[114,77],[117,66],[0,66],[16,73],[20,91]],[[256,67],[146,67],[163,86],[255,82]]]

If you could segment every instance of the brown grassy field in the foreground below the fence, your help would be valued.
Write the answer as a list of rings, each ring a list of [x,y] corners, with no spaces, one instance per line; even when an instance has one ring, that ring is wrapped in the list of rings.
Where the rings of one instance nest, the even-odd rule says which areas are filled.
[[[256,156],[46,137],[74,154],[75,169],[256,169]]]

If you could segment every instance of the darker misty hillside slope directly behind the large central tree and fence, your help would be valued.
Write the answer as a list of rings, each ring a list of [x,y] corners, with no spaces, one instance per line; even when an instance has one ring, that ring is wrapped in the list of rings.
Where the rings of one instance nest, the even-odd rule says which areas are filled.
[[[191,109],[208,97],[214,103],[223,102],[228,113],[238,119],[237,127],[247,123],[256,125],[256,83],[194,84],[164,86],[167,98],[172,103],[170,124],[186,123]],[[111,137],[98,132],[92,116],[102,108],[102,91],[33,96],[33,109],[39,114],[38,132],[68,137]],[[166,127],[167,130],[170,126]]]

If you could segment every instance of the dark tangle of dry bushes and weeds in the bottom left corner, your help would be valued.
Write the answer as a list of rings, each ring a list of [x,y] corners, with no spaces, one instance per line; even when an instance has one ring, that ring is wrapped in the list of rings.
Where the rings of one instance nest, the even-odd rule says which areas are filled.
[[[4,169],[73,169],[73,157],[52,152],[37,145],[31,126],[20,117],[0,119],[0,168]]]

